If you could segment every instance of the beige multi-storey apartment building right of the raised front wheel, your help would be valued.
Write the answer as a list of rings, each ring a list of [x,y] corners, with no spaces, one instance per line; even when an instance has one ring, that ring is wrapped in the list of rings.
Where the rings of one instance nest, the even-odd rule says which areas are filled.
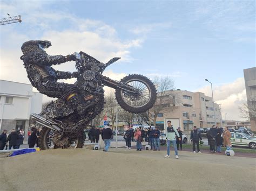
[[[158,100],[159,98],[163,96],[158,95]],[[210,128],[215,121],[217,126],[221,126],[219,105],[213,103],[212,97],[204,93],[170,90],[165,93],[161,104],[164,107],[158,114],[156,122],[156,126],[160,129],[165,129],[169,120],[172,121],[173,126],[176,128],[180,126],[184,131],[189,131],[194,125],[198,128]]]

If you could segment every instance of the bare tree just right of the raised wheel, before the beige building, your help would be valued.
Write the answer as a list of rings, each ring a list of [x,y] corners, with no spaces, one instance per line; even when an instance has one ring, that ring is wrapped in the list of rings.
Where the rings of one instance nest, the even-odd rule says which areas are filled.
[[[153,125],[156,126],[158,115],[173,110],[177,100],[173,91],[170,91],[173,89],[174,82],[169,76],[156,77],[153,82],[157,89],[156,103],[149,111],[140,114],[140,117],[145,123],[151,125],[153,122]]]

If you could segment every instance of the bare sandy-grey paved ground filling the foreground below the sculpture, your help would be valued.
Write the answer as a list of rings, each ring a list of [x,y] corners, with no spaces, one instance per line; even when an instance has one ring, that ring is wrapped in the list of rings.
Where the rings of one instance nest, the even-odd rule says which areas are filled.
[[[1,190],[255,190],[255,158],[111,148],[0,158]]]

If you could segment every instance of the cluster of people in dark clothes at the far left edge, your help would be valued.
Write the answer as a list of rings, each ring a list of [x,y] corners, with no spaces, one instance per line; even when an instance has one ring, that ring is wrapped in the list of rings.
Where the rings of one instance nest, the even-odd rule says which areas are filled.
[[[23,144],[24,140],[24,131],[22,130],[15,130],[12,129],[11,133],[7,137],[7,130],[3,130],[2,134],[0,135],[0,150],[7,150],[8,149],[8,143],[9,143],[9,150],[11,148],[17,149],[19,146]]]

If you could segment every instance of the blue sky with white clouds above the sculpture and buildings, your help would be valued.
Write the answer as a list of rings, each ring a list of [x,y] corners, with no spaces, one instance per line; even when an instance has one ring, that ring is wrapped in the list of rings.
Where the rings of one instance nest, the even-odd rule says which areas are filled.
[[[122,57],[104,73],[170,76],[176,88],[202,91],[221,103],[223,118],[239,120],[246,101],[243,69],[255,67],[255,1],[3,1],[0,79],[29,83],[21,45],[50,40],[51,55],[83,51],[102,62]],[[75,71],[74,63],[56,66]],[[44,101],[47,100],[44,98]]]

